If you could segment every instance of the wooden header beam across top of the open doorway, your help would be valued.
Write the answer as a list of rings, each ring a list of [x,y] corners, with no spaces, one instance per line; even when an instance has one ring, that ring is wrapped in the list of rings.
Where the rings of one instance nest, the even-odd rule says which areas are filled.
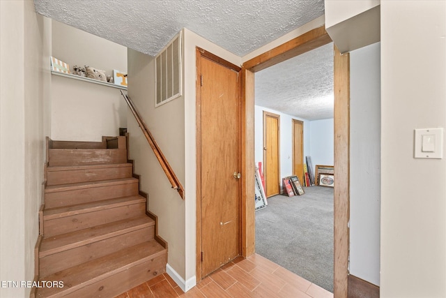
[[[331,42],[325,27],[319,27],[246,61],[243,67],[255,73]]]

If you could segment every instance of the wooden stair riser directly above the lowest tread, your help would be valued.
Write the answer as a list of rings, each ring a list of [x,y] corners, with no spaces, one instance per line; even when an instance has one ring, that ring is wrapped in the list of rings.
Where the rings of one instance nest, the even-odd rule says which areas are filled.
[[[123,248],[153,239],[154,227],[142,228],[101,241],[79,246],[40,258],[40,276],[47,276],[90,260],[95,260]]]

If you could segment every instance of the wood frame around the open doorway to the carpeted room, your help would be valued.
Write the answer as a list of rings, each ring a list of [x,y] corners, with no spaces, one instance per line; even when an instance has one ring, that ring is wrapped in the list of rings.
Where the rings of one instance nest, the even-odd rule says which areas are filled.
[[[325,27],[264,52],[243,64],[242,161],[245,172],[254,173],[254,73],[331,43]],[[350,206],[350,57],[334,47],[334,297],[348,297],[348,249]],[[242,253],[255,252],[254,179],[242,181]]]

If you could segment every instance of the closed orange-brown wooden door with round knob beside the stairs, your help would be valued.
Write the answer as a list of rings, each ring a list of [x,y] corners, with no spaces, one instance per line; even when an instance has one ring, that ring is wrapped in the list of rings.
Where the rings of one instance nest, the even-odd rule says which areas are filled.
[[[219,61],[220,62],[220,61]],[[208,58],[201,73],[201,276],[240,255],[239,73]]]

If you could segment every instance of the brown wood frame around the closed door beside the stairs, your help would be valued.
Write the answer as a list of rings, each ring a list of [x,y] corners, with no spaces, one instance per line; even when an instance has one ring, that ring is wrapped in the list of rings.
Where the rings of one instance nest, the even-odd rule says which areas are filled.
[[[197,267],[196,267],[196,278],[197,281],[201,281],[201,80],[199,79],[199,70],[201,69],[201,59],[209,59],[217,64],[220,64],[226,68],[229,68],[231,70],[234,70],[238,73],[239,77],[241,78],[241,70],[242,68],[240,68],[239,66],[236,66],[234,64],[231,64],[229,61],[226,61],[218,56],[216,56],[215,54],[212,54],[206,50],[201,49],[200,47],[196,47],[195,50],[195,55],[196,55],[196,65],[197,65],[197,79],[196,79],[196,86],[195,89],[197,91],[197,103],[196,103],[196,125],[197,125],[197,248],[196,248],[196,253],[197,253]],[[241,98],[241,90],[242,90],[242,80],[238,80],[238,90],[239,90],[239,98],[240,101],[243,100],[243,98]],[[240,109],[240,154],[243,157],[242,154],[242,149],[243,149],[243,105],[240,105],[239,109]],[[242,178],[245,177],[245,171],[243,170],[243,158],[240,158],[239,161],[240,165],[240,174],[242,174]],[[254,179],[252,179],[254,181]],[[254,187],[254,184],[253,184]],[[243,197],[243,181],[241,183],[241,187],[240,187],[240,194],[239,194],[239,198],[240,198],[240,238],[243,237],[242,234],[242,225],[243,225],[243,216],[242,216],[242,208],[243,208],[243,204],[242,202],[244,201],[244,197]],[[254,200],[252,200],[254,202]],[[243,251],[243,245],[242,245],[242,241],[241,239],[239,239],[239,251],[242,252]]]

